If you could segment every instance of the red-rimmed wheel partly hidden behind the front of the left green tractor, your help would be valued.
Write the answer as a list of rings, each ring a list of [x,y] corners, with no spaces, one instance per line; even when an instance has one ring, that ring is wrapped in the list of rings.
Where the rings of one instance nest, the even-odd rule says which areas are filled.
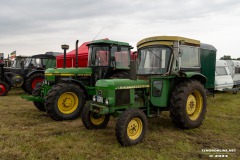
[[[32,94],[33,92],[33,89],[35,88],[35,86],[39,83],[39,82],[42,82],[44,79],[44,73],[34,73],[32,74],[31,76],[29,76],[27,79],[26,79],[26,82],[25,82],[25,91],[28,93],[28,94]]]

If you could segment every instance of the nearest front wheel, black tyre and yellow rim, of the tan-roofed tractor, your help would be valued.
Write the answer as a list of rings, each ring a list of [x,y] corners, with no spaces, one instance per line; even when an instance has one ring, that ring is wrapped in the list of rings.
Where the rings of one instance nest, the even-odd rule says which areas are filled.
[[[147,131],[147,117],[137,108],[124,111],[116,123],[116,138],[122,146],[142,142]]]

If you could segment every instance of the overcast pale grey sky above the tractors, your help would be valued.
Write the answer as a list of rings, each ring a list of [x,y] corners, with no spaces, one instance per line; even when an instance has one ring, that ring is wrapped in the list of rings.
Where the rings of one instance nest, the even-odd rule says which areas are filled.
[[[240,57],[239,0],[0,0],[0,53],[63,52],[94,39],[128,42],[151,36],[200,40]]]

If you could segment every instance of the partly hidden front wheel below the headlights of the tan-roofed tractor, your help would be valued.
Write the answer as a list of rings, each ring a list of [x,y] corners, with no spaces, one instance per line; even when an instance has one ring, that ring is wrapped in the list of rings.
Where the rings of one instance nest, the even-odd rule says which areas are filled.
[[[110,114],[100,115],[90,111],[89,104],[83,108],[82,122],[87,129],[104,129],[110,120]]]

